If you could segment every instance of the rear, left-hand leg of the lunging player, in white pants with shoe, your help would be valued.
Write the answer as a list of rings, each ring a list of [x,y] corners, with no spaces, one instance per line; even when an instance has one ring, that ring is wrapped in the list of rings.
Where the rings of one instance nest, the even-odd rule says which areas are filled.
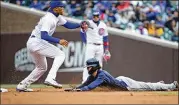
[[[47,60],[45,56],[39,55],[37,52],[30,52],[34,62],[35,69],[17,85],[17,91],[33,91],[28,87],[37,81],[47,71]]]

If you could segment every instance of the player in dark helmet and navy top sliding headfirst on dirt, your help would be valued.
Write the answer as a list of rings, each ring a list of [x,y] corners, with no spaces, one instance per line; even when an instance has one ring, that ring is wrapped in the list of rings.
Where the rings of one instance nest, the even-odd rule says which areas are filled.
[[[96,58],[87,60],[86,66],[90,75],[87,81],[77,88],[65,89],[65,91],[89,91],[101,85],[118,87],[127,91],[172,91],[178,88],[177,81],[171,84],[165,84],[164,82],[141,82],[124,76],[114,78],[107,71],[101,69],[100,63]]]

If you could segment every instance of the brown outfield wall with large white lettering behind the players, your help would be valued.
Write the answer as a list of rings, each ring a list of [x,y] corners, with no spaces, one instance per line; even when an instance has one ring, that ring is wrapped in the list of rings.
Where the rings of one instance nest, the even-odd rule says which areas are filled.
[[[40,17],[1,8],[1,83],[14,84],[25,78],[34,68],[26,50],[26,41]],[[56,37],[69,42],[66,59],[57,75],[60,83],[80,83],[84,66],[84,49],[79,30],[58,28]],[[113,76],[128,76],[136,80],[167,83],[178,80],[178,49],[162,47],[110,34],[112,58],[104,69]],[[48,68],[52,59],[48,59]],[[48,69],[49,70],[49,69]],[[37,82],[43,83],[46,74]]]

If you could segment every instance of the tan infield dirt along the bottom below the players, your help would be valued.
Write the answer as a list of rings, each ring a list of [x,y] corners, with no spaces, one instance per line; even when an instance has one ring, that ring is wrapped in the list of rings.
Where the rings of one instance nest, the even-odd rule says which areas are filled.
[[[1,93],[1,104],[178,104],[178,91],[64,92],[63,89],[35,88],[34,92]]]

